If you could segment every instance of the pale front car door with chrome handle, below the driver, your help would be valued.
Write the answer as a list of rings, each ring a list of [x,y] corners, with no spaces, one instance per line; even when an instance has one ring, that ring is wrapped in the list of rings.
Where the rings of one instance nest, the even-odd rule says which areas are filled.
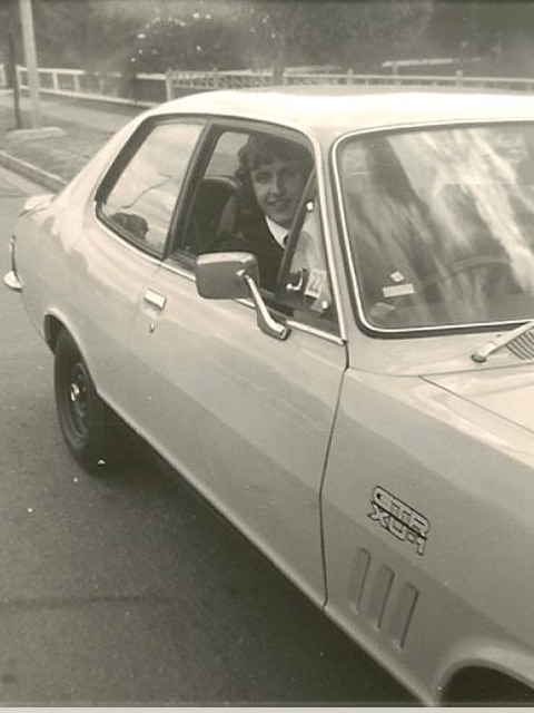
[[[236,138],[220,138],[222,154]],[[229,178],[222,164],[215,152],[200,183],[215,178],[210,166]],[[306,205],[318,227],[317,202]],[[308,237],[295,228],[286,272],[303,258],[299,245]],[[323,240],[320,231],[316,237]],[[346,363],[332,297],[328,309],[317,306],[326,263],[294,311],[289,336],[279,340],[258,329],[248,300],[200,297],[189,254],[182,243],[151,276],[146,290],[159,305],[142,302],[137,315],[136,421],[178,471],[323,604],[319,492]]]

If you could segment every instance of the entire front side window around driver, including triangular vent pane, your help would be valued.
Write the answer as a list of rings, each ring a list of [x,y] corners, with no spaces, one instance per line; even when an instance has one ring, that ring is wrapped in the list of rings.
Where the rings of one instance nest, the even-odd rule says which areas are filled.
[[[337,331],[313,173],[290,134],[219,131],[174,256],[253,253],[269,306]]]

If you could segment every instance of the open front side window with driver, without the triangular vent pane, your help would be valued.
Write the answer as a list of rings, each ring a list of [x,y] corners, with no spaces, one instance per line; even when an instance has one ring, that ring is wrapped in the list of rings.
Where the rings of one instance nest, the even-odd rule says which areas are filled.
[[[219,130],[176,251],[190,256],[250,252],[258,260],[260,287],[273,293],[283,238],[312,168],[312,153],[286,134]]]

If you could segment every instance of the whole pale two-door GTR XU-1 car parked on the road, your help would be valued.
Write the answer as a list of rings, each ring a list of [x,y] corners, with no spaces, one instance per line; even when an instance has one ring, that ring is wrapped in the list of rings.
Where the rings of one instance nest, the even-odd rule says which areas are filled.
[[[128,424],[424,704],[534,700],[534,97],[176,99],[10,251],[81,465]]]

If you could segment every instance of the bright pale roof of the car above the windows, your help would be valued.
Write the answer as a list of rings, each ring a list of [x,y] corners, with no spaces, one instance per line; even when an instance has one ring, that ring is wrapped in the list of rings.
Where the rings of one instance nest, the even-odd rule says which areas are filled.
[[[383,127],[534,119],[534,96],[461,88],[268,87],[190,95],[154,113],[249,118],[332,140],[348,131]]]

